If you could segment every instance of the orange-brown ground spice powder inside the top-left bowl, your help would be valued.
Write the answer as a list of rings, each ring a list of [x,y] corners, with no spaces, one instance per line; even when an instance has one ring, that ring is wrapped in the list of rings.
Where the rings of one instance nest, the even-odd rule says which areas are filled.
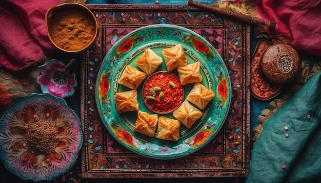
[[[51,35],[58,47],[78,51],[87,47],[95,36],[94,20],[81,9],[63,9],[51,21]]]

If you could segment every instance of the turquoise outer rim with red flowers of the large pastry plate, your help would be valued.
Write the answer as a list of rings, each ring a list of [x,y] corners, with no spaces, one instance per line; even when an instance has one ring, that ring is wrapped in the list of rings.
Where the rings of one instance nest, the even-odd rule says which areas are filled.
[[[135,38],[135,35],[136,34],[138,35],[139,32],[151,31],[154,29],[178,30],[178,31],[182,32],[183,34],[189,35],[191,37],[195,37],[198,40],[204,42],[208,47],[208,52],[210,52],[209,56],[214,55],[212,57],[207,58],[208,59],[207,61],[211,65],[209,65],[207,62],[201,61],[205,65],[205,70],[207,70],[205,72],[209,73],[209,79],[210,79],[209,82],[216,83],[216,80],[218,80],[219,78],[221,80],[222,80],[222,78],[225,78],[225,80],[226,80],[227,98],[224,100],[225,102],[224,102],[223,107],[218,106],[218,107],[222,107],[222,109],[223,109],[222,114],[217,115],[217,113],[216,113],[215,115],[214,114],[209,115],[207,113],[206,117],[203,118],[203,121],[201,122],[202,125],[195,128],[194,129],[195,132],[191,132],[188,135],[186,135],[184,139],[183,138],[179,139],[178,143],[164,141],[164,140],[155,140],[155,139],[151,140],[150,138],[148,138],[145,135],[138,134],[137,132],[132,131],[132,129],[130,127],[128,127],[128,125],[125,124],[125,122],[119,116],[119,114],[117,112],[115,112],[116,108],[115,108],[115,104],[113,101],[114,94],[117,92],[117,86],[115,86],[115,83],[116,83],[115,80],[117,80],[117,78],[123,72],[122,70],[124,69],[126,64],[129,63],[131,60],[126,60],[124,58],[120,58],[119,60],[117,60],[116,57],[119,55],[114,54],[114,53],[117,52],[119,47],[121,47],[121,45],[124,44],[124,42],[126,40],[128,40],[130,38]],[[146,37],[145,37],[145,39],[146,39]],[[138,44],[136,45],[137,49],[139,49],[141,47],[148,47],[147,45],[153,44],[153,43],[151,43],[154,41],[153,39],[154,38],[150,38],[150,40],[148,40],[148,41],[138,42]],[[162,39],[162,40],[166,40],[166,38]],[[173,40],[169,40],[168,38],[167,38],[167,40],[169,42],[179,43],[179,41],[177,42],[177,40],[173,41]],[[154,41],[154,43],[157,43],[157,41]],[[182,43],[184,50],[186,51],[185,43],[183,43],[183,42],[181,42],[181,43]],[[136,47],[134,47],[134,48],[136,48]],[[130,51],[128,51],[128,52],[130,52]],[[198,53],[195,49],[193,50],[193,54],[195,54],[196,57],[201,57],[199,60],[205,59],[203,56],[200,56],[200,55],[203,55],[203,53]],[[130,54],[126,53],[126,54],[124,54],[124,56],[125,55],[129,56]],[[116,62],[116,63],[112,63],[112,64],[116,64],[116,65],[110,66],[111,62]],[[113,68],[114,71],[109,70],[109,67]],[[121,71],[118,71],[118,69],[121,69]],[[138,70],[139,70],[139,68],[138,68]],[[213,71],[215,71],[215,70],[217,70],[217,73],[214,75]],[[115,71],[118,71],[118,72],[115,72]],[[106,74],[106,73],[108,73],[108,74]],[[220,57],[218,52],[215,50],[215,48],[204,37],[200,36],[196,32],[194,32],[190,29],[181,27],[181,26],[166,25],[166,24],[165,25],[150,25],[150,26],[144,26],[144,27],[138,28],[138,29],[128,33],[127,35],[125,35],[121,39],[119,39],[113,45],[113,47],[108,51],[108,53],[104,57],[101,67],[98,70],[98,74],[96,77],[96,83],[95,83],[95,99],[96,99],[96,106],[97,106],[97,110],[99,113],[99,117],[101,118],[104,126],[107,128],[109,133],[113,136],[113,138],[118,143],[122,144],[124,147],[126,147],[130,151],[135,152],[139,155],[143,155],[145,157],[154,158],[154,159],[174,159],[174,158],[179,158],[179,157],[183,157],[183,156],[192,154],[192,153],[196,152],[197,150],[201,149],[202,147],[204,147],[208,142],[210,142],[214,138],[214,136],[216,136],[216,134],[218,133],[220,128],[222,128],[222,126],[227,118],[228,111],[229,111],[229,108],[231,105],[231,97],[232,97],[231,80],[230,80],[228,73],[229,72],[227,70],[226,64],[224,63],[222,57]],[[101,99],[101,97],[99,97],[99,96],[102,95],[102,94],[100,94],[102,89],[100,88],[99,85],[101,84],[101,82],[102,82],[101,80],[103,79],[103,77],[107,78],[107,80],[109,82],[109,88],[108,88],[108,91],[105,94],[103,94],[103,96],[101,96],[101,97],[104,97],[104,99],[103,98]],[[142,82],[142,84],[144,83],[144,81]],[[214,99],[215,99],[215,98],[218,98],[217,94],[216,94],[217,91],[215,91],[215,88],[217,86],[215,85],[213,87],[214,87],[213,90],[215,92],[215,96],[214,96]],[[138,89],[137,89],[137,91],[138,91]],[[187,94],[185,94],[185,95],[187,95]],[[106,100],[107,100],[107,102],[106,102]],[[214,103],[214,102],[215,101],[212,101],[212,103]],[[144,104],[140,103],[139,105],[144,105]],[[212,112],[214,110],[213,108],[214,108],[214,104],[210,104],[210,106],[208,107],[208,110]],[[216,111],[216,109],[215,109],[215,111]],[[214,116],[219,116],[219,121],[216,120],[213,122],[212,119],[214,119]],[[206,142],[198,145],[197,147],[193,147],[193,148],[187,147],[187,146],[190,146],[190,143],[191,143],[190,141],[191,141],[192,136],[195,137],[195,133],[199,132],[198,130],[201,130],[203,128],[206,128],[206,130],[208,130],[210,128],[214,128],[214,129],[211,129],[213,131],[210,133]],[[125,130],[126,133],[128,132],[128,134],[131,135],[131,140],[133,141],[133,144],[132,143],[129,144],[126,140],[124,141],[122,138],[118,137],[117,132],[115,130],[120,131],[119,129]],[[162,149],[164,151],[160,150],[162,152],[159,151],[160,153],[156,153],[155,149],[153,149],[155,147],[152,147],[154,145],[156,146],[156,148]],[[137,146],[139,146],[139,147],[137,148]],[[186,148],[187,148],[187,150],[186,150]],[[150,149],[152,149],[152,150],[150,150]],[[185,149],[185,151],[180,152],[179,149]],[[173,152],[173,151],[175,151],[175,152]]]

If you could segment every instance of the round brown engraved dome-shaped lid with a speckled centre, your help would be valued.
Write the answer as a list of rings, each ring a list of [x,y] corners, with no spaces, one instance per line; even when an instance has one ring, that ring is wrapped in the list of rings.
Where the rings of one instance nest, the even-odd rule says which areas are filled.
[[[300,58],[288,44],[271,45],[262,56],[260,70],[264,77],[275,84],[291,82],[300,71]]]

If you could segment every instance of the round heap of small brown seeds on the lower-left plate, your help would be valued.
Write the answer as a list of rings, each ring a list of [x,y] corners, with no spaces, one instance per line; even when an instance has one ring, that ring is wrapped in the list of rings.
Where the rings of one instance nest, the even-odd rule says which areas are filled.
[[[26,146],[35,154],[50,154],[58,145],[58,127],[53,121],[36,118],[26,126]]]

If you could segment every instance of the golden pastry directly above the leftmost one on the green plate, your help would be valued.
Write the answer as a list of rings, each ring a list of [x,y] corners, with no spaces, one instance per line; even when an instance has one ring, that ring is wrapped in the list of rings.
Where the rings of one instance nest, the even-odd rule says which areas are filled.
[[[144,72],[138,71],[137,68],[131,65],[126,65],[121,78],[118,80],[118,83],[131,89],[137,89],[139,84],[143,82],[146,76],[147,75]]]

